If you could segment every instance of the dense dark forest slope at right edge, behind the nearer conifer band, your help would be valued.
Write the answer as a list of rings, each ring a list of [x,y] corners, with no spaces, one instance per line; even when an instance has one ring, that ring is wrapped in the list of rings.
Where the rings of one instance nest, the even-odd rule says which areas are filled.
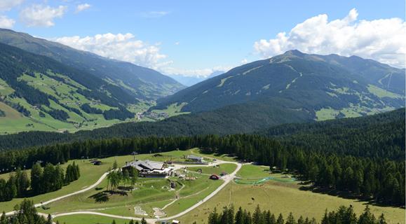
[[[362,118],[286,124],[258,133],[317,151],[405,160],[405,109]]]

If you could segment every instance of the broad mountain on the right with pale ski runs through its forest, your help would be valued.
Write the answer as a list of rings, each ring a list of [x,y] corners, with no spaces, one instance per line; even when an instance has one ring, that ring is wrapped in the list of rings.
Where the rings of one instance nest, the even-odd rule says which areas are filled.
[[[281,99],[317,120],[389,111],[405,106],[405,69],[356,56],[291,50],[159,99],[156,108],[184,104],[182,111],[198,112]]]

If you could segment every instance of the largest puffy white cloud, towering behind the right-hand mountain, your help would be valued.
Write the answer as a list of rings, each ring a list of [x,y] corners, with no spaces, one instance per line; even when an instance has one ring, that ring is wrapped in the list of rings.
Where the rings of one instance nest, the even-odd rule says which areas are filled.
[[[316,54],[358,55],[392,66],[405,67],[406,23],[400,18],[358,20],[355,8],[341,20],[317,15],[280,32],[276,38],[259,40],[254,48],[262,57],[297,49]]]

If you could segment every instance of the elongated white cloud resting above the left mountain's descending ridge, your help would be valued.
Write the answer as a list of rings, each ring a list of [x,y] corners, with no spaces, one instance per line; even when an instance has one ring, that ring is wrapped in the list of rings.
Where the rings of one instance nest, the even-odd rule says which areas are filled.
[[[168,62],[162,62],[166,55],[160,52],[159,44],[150,45],[137,40],[133,34],[97,34],[95,36],[65,36],[53,41],[72,48],[93,52],[103,57],[158,69]]]

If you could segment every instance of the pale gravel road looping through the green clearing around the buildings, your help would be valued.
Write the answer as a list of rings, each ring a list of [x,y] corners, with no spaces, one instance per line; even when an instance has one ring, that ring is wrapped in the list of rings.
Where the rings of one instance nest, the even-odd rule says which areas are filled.
[[[213,165],[220,165],[223,163],[233,163],[235,165],[237,165],[237,168],[234,170],[234,172],[232,172],[229,175],[223,176],[222,179],[224,180],[224,183],[222,183],[221,186],[219,186],[216,190],[214,190],[212,193],[210,193],[210,195],[208,195],[207,197],[205,197],[203,200],[201,200],[200,202],[194,204],[192,207],[189,207],[189,209],[186,209],[182,212],[180,212],[179,214],[176,214],[174,216],[170,216],[170,217],[165,217],[165,218],[146,218],[147,223],[156,223],[156,221],[160,221],[160,220],[171,220],[174,218],[178,218],[180,216],[183,216],[185,214],[187,214],[189,211],[192,211],[193,209],[196,209],[197,207],[199,207],[201,204],[207,202],[208,200],[210,200],[210,198],[214,197],[217,193],[219,193],[220,190],[222,190],[228,183],[230,183],[230,181],[232,181],[234,179],[234,177],[236,176],[237,172],[241,169],[242,165],[241,163],[238,162],[226,162],[226,161],[222,161],[222,160],[217,160],[216,162],[212,162],[209,165],[175,165],[175,169],[181,169],[182,167],[202,167],[202,166],[213,166]],[[99,180],[97,180],[96,183],[94,183],[92,186],[88,186],[87,188],[83,188],[82,190],[78,190],[74,193],[70,193],[67,195],[63,195],[61,197],[55,197],[52,200],[48,200],[46,202],[42,202],[39,204],[35,204],[35,207],[41,207],[41,205],[43,204],[49,204],[51,202],[55,202],[57,200],[62,200],[65,197],[70,197],[72,195],[77,195],[80,193],[84,193],[87,190],[90,190],[92,188],[95,188],[97,185],[99,185],[99,183],[101,183],[103,181],[103,179],[107,176],[107,173],[104,173]],[[8,213],[6,213],[6,215],[11,215],[14,214],[15,211],[10,211]],[[77,214],[92,214],[92,215],[97,215],[97,216],[107,216],[107,217],[111,217],[111,218],[123,218],[123,219],[128,219],[128,220],[134,220],[134,221],[141,221],[142,218],[137,218],[137,217],[131,217],[131,216],[116,216],[116,215],[111,215],[111,214],[104,214],[104,213],[100,213],[100,212],[95,212],[95,211],[72,211],[72,212],[66,212],[66,213],[60,213],[60,214],[55,214],[53,215],[53,218],[55,217],[60,217],[60,216],[71,216],[71,215],[77,215]],[[41,214],[41,215],[45,215],[45,214]]]

